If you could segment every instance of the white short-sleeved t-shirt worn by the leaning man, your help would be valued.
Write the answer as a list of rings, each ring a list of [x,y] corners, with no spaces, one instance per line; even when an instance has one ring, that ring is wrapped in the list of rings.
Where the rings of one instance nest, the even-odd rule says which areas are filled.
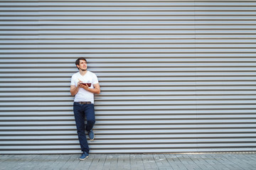
[[[96,74],[94,74],[90,71],[87,71],[85,76],[82,76],[80,74],[80,72],[73,74],[73,76],[71,77],[71,85],[78,86],[78,81],[82,81],[83,83],[90,83],[90,84],[99,83]],[[89,88],[94,89],[94,86],[91,85]],[[86,91],[85,89],[79,88],[78,94],[75,94],[74,101],[75,102],[90,101],[90,102],[94,103],[94,94],[92,94],[89,91]]]

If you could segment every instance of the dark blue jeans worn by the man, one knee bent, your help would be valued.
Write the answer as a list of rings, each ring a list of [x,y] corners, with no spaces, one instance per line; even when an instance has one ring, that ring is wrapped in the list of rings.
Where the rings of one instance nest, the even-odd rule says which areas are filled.
[[[80,104],[74,102],[73,111],[75,115],[75,125],[78,130],[78,139],[82,152],[87,152],[89,154],[89,146],[87,143],[87,137],[85,135],[85,130],[90,131],[95,125],[95,109],[94,104]],[[85,117],[87,123],[85,125]]]

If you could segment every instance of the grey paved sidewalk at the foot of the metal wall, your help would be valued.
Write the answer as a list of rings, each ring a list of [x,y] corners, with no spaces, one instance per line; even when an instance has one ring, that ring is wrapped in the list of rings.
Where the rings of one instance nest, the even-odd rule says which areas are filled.
[[[256,154],[0,155],[0,169],[256,169]]]

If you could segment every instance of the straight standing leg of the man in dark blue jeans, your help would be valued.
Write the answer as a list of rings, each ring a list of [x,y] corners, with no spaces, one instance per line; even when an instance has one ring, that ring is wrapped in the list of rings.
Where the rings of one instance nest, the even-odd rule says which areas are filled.
[[[78,130],[78,139],[80,142],[80,147],[82,152],[87,152],[89,154],[89,146],[87,143],[87,138],[85,135],[85,113],[82,105],[80,103],[74,103],[73,111],[75,115],[75,125]]]

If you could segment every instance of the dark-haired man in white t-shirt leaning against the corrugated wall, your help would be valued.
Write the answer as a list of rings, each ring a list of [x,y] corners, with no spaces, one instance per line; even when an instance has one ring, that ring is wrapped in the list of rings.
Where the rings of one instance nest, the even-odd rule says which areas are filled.
[[[95,139],[92,127],[95,124],[94,94],[100,94],[100,84],[96,74],[87,71],[87,61],[80,57],[75,61],[79,72],[73,74],[71,78],[70,94],[75,96],[73,109],[75,124],[78,130],[78,139],[82,150],[80,160],[89,157],[89,147],[85,130],[90,140]],[[87,124],[85,125],[85,117]]]

